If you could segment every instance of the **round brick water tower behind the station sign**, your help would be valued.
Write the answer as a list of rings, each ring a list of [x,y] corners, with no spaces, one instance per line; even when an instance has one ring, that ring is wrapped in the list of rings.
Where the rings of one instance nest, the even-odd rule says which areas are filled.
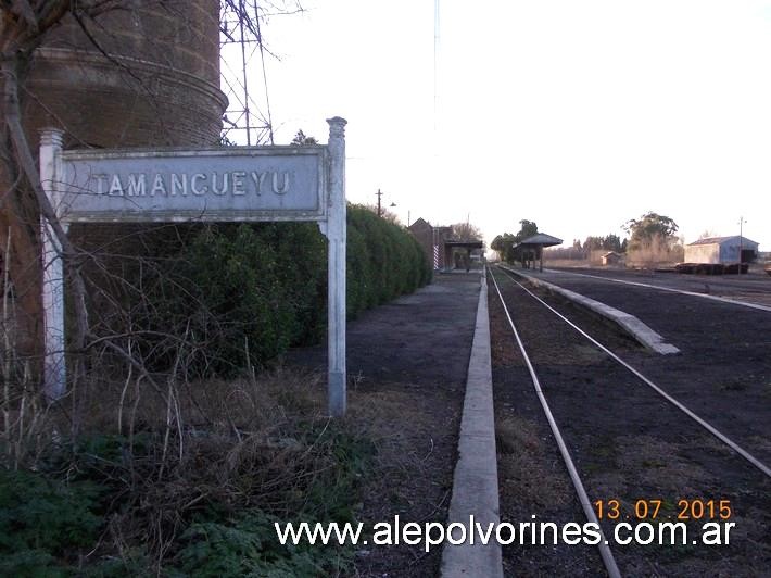
[[[215,144],[227,105],[219,90],[219,2],[135,0],[83,24],[67,16],[36,50],[21,92],[33,151],[45,126],[65,131],[65,148]],[[8,180],[0,175],[4,190]],[[3,248],[11,236],[4,266],[22,352],[35,352],[40,336],[34,212],[20,218],[0,209]],[[118,235],[114,226],[72,234],[91,244]]]

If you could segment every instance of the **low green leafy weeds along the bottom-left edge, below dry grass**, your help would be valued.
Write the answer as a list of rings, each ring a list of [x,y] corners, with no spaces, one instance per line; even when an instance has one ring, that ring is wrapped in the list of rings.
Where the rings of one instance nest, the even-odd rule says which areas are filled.
[[[159,476],[163,437],[138,437],[134,444],[117,435],[64,441],[41,464],[46,474],[0,469],[0,576],[291,577],[350,568],[351,543],[282,545],[274,525],[355,523],[375,453],[362,432],[340,422],[295,422],[292,439],[304,450],[279,460],[275,479],[287,483],[268,495],[261,485],[239,482],[266,463],[244,460],[218,493],[211,490],[219,481],[217,468],[197,462],[182,466],[191,469],[167,464],[169,474]],[[65,475],[68,481],[56,479]],[[202,492],[208,497],[201,507],[177,512],[174,504]],[[173,514],[173,531],[155,526],[163,512]],[[121,519],[125,533],[102,531],[106,519]]]

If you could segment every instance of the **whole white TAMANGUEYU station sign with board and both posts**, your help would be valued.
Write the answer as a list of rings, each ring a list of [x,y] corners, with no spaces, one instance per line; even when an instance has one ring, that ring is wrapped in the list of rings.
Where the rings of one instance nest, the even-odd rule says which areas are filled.
[[[328,239],[329,414],[345,414],[345,120],[327,146],[63,151],[40,138],[40,180],[69,223],[314,221]],[[59,240],[41,219],[43,391],[66,391],[64,276]]]

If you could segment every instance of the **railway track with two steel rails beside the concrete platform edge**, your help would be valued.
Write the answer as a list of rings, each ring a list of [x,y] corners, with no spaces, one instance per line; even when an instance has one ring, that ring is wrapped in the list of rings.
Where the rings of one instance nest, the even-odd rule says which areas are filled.
[[[510,274],[490,275],[491,296],[500,299],[581,508],[603,529],[596,545],[608,575],[667,574],[665,567],[704,575],[710,564],[732,570],[736,560],[751,561],[758,540],[763,555],[771,555],[766,463]],[[738,528],[745,519],[764,520],[764,536],[758,538],[749,522]],[[636,531],[643,524],[660,528],[681,522],[695,537],[688,543],[670,535],[669,548],[620,549],[615,540],[621,523]],[[740,543],[723,550],[697,544],[702,537],[693,532],[708,523],[722,524],[721,529],[733,523],[742,537],[734,544]],[[747,564],[743,568],[751,574],[754,563]]]

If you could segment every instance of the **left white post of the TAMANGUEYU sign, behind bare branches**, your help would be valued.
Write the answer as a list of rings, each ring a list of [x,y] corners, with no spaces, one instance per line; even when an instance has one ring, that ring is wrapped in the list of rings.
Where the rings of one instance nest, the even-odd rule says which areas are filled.
[[[40,183],[54,211],[61,210],[62,141],[58,128],[40,130]],[[64,357],[64,267],[62,248],[49,223],[40,217],[43,314],[43,392],[56,400],[66,391]]]

